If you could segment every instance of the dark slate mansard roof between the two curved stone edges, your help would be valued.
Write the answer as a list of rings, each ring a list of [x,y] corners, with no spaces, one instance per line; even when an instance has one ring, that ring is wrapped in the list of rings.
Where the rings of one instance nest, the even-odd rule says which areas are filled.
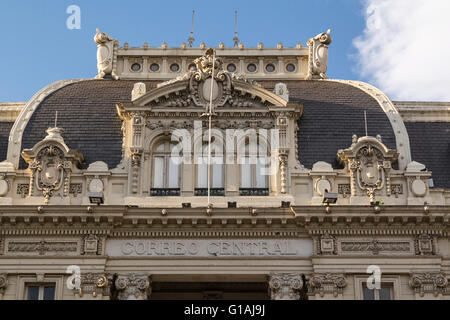
[[[38,105],[22,138],[22,149],[33,147],[45,130],[52,126],[58,111],[58,125],[65,130],[64,139],[72,149],[85,157],[85,166],[104,161],[116,167],[122,157],[122,121],[116,104],[130,101],[132,80],[83,80],[49,94]],[[160,81],[144,81],[147,91]],[[259,81],[270,91],[274,81]],[[340,165],[339,149],[348,147],[353,134],[365,135],[364,110],[367,111],[369,135],[380,134],[389,148],[395,149],[395,135],[379,103],[364,91],[348,84],[331,81],[284,81],[289,100],[304,105],[300,118],[298,146],[300,162],[311,168],[317,161]],[[21,159],[21,168],[25,164]]]

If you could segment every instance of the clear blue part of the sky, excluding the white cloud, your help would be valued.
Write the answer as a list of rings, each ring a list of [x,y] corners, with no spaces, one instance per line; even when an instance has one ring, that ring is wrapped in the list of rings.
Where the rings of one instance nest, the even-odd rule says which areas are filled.
[[[81,30],[69,30],[69,5],[81,9]],[[232,45],[234,10],[239,39],[246,46],[295,46],[332,29],[328,74],[357,79],[349,55],[352,39],[364,27],[363,6],[357,0],[314,1],[99,1],[2,0],[0,2],[0,101],[26,101],[49,83],[96,75],[95,29],[121,45],[179,46],[189,37],[196,11],[197,46],[205,42]]]

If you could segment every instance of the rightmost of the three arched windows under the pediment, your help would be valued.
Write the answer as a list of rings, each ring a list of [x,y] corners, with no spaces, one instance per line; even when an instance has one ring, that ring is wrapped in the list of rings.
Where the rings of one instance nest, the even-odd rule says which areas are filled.
[[[267,143],[258,139],[256,145],[246,140],[244,150],[240,157],[241,168],[241,196],[267,196],[269,195],[270,157]]]

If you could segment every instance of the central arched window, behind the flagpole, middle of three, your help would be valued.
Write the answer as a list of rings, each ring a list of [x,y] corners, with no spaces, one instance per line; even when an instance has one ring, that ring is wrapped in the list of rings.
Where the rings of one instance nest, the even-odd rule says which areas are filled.
[[[211,145],[211,196],[224,196],[224,161],[223,153]],[[208,144],[202,146],[202,154],[197,159],[196,196],[208,195]]]

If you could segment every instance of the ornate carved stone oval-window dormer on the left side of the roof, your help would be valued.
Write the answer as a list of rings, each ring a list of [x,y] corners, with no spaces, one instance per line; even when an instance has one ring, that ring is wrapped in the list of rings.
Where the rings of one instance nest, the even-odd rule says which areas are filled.
[[[39,191],[47,204],[55,192],[67,197],[70,191],[70,174],[83,161],[83,155],[70,150],[61,136],[62,128],[47,129],[47,136],[32,149],[25,149],[22,157],[31,170],[29,195]]]

